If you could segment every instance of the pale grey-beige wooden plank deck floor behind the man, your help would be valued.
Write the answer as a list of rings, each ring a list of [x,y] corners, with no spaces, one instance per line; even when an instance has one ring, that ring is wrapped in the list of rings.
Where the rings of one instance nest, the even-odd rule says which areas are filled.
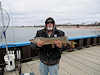
[[[22,64],[22,72],[39,74],[39,60]],[[17,71],[4,75],[18,75]],[[100,46],[93,46],[73,52],[64,51],[59,64],[59,75],[100,75]]]

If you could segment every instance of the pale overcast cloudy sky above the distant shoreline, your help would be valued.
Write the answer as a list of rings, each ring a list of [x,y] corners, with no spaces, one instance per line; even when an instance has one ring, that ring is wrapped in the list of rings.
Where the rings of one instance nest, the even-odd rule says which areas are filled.
[[[56,24],[100,22],[100,0],[1,0],[10,15],[10,25],[44,25],[47,17]]]

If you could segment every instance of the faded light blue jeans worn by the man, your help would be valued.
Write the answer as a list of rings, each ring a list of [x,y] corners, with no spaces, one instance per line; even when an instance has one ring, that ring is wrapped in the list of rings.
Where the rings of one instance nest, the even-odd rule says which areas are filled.
[[[58,64],[48,66],[40,62],[40,75],[58,75],[58,68]]]

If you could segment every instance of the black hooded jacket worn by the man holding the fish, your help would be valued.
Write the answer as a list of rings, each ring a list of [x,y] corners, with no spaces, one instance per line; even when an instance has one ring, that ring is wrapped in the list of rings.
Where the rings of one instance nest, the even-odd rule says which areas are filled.
[[[55,22],[54,22],[54,28],[53,32],[50,36],[48,36],[47,29],[46,29],[46,22],[44,29],[38,30],[36,33],[36,37],[45,37],[45,38],[51,38],[51,37],[61,37],[65,36],[65,33],[61,30],[56,29]],[[42,47],[39,47],[40,51],[40,61],[46,65],[55,65],[58,64],[61,58],[61,48],[58,48],[56,45],[52,47],[51,44],[49,45],[43,45]]]

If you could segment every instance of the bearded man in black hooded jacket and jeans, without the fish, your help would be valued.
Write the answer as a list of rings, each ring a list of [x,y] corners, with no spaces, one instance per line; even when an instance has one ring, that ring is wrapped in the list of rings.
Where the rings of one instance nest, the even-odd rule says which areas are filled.
[[[51,17],[45,21],[45,28],[37,31],[36,37],[62,37],[64,32],[56,29],[55,20]],[[36,45],[40,49],[40,75],[58,75],[59,61],[61,58],[62,42],[54,41],[52,46],[44,45],[44,41],[37,41]]]

